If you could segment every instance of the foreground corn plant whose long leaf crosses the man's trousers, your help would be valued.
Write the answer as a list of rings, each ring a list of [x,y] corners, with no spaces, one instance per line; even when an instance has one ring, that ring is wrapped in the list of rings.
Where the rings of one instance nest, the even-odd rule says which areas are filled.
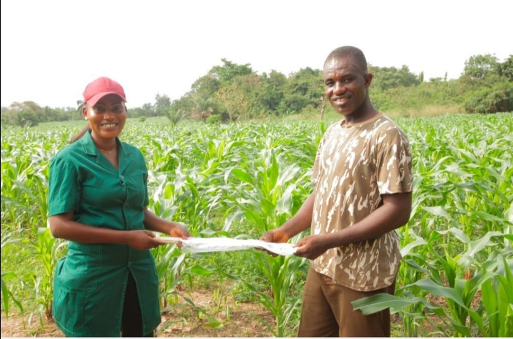
[[[445,324],[446,327],[441,326],[441,324],[438,324],[438,327],[447,336],[475,336],[477,333],[490,336],[490,317],[492,317],[491,324],[497,323],[494,322],[493,319],[494,313],[483,312],[483,300],[480,302],[481,306],[477,309],[472,308],[472,302],[475,300],[476,293],[482,289],[483,284],[485,284],[485,288],[490,289],[486,282],[497,274],[499,274],[497,275],[498,277],[501,277],[497,279],[501,282],[504,281],[504,284],[509,284],[508,273],[505,273],[503,277],[500,275],[501,270],[497,269],[497,258],[499,257],[499,261],[502,261],[502,257],[509,257],[510,259],[507,260],[507,265],[511,265],[513,249],[504,247],[501,250],[494,250],[484,262],[479,262],[476,260],[476,255],[479,252],[486,252],[486,247],[495,246],[496,243],[492,241],[491,238],[500,238],[503,236],[500,232],[489,232],[485,237],[476,241],[470,241],[462,234],[461,230],[458,229],[451,229],[447,232],[455,234],[458,240],[466,243],[467,250],[456,257],[449,256],[448,253],[445,253],[443,256],[426,242],[424,245],[429,248],[429,251],[436,260],[435,263],[426,261],[429,278],[401,287],[401,290],[408,290],[411,287],[420,287],[429,294],[441,296],[446,302],[447,309],[433,305],[425,296],[409,294],[407,295],[408,298],[402,298],[386,293],[380,293],[369,298],[355,301],[353,302],[354,308],[361,309],[364,314],[369,314],[388,307],[404,309],[410,305],[420,303],[423,307],[428,308],[441,318],[442,323]],[[504,266],[507,265],[504,264]],[[475,273],[471,278],[465,277],[466,268],[470,266],[475,269]],[[439,267],[442,267],[442,272],[445,273],[445,279],[442,279]],[[507,272],[506,269],[503,271]],[[445,280],[447,280],[449,286],[445,285]],[[488,291],[487,293],[490,292]],[[495,309],[494,305],[488,308],[492,310]],[[507,314],[507,308],[503,307],[503,310],[506,312],[504,314]],[[504,315],[502,319],[508,319],[507,315]],[[501,331],[508,331],[507,328],[505,328],[506,325],[507,323],[500,325]],[[498,333],[498,331],[499,330],[492,329],[492,332]]]

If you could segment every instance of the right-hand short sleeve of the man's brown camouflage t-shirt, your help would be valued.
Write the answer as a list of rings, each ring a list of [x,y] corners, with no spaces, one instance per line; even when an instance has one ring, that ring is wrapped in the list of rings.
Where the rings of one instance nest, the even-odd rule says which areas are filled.
[[[406,135],[399,129],[389,130],[380,146],[377,165],[380,194],[411,192],[413,169]]]

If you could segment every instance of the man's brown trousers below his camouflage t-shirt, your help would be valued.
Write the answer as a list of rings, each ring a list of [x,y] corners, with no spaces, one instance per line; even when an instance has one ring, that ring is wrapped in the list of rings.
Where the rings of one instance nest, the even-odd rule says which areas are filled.
[[[303,291],[298,336],[390,336],[389,309],[363,315],[360,310],[353,310],[351,302],[377,293],[393,294],[394,290],[395,282],[376,291],[352,290],[310,268]]]

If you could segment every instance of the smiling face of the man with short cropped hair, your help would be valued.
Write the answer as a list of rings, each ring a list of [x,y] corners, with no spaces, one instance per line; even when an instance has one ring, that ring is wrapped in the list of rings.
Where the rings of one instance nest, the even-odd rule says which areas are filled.
[[[345,117],[358,111],[367,98],[372,74],[366,74],[350,56],[327,60],[323,74],[326,97],[333,108]]]

